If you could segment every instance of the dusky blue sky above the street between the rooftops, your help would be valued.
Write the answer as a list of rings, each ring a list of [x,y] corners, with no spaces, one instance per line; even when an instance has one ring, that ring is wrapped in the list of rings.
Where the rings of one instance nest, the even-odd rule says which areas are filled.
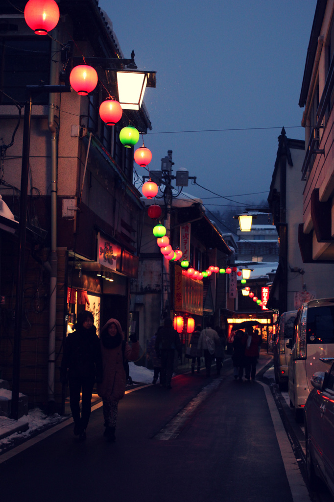
[[[235,206],[266,200],[282,127],[304,139],[298,101],[316,0],[99,6],[124,57],[134,49],[138,69],[156,71],[156,88],[144,97],[153,127],[144,137],[149,168],[160,169],[173,150],[175,170],[188,169],[198,185]],[[183,133],[212,130],[224,131]],[[135,166],[140,177],[147,174]],[[230,204],[205,189],[184,190],[210,210]]]

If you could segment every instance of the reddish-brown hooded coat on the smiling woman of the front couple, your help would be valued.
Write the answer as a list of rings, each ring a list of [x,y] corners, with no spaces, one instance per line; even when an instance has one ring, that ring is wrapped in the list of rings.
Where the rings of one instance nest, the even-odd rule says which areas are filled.
[[[104,332],[110,323],[115,323],[117,330],[121,335],[121,343],[115,348],[106,348],[102,342],[102,332]],[[123,366],[124,334],[117,319],[109,319],[101,330],[101,352],[103,366],[103,380],[97,385],[97,394],[106,401],[119,401],[125,394],[126,374]],[[124,358],[128,361],[134,361],[139,356],[139,342],[129,345],[125,342]]]

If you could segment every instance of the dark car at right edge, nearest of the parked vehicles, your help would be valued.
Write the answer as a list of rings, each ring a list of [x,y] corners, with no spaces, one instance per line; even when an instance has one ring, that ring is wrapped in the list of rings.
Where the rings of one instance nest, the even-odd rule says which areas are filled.
[[[311,487],[321,477],[334,497],[334,363],[317,371],[304,407],[306,469]]]

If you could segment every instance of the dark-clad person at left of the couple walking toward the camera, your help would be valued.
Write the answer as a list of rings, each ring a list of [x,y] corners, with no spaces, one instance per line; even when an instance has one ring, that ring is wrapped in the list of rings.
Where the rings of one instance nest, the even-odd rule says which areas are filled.
[[[80,312],[74,331],[65,340],[60,367],[60,381],[67,379],[70,388],[70,408],[74,421],[74,435],[86,439],[93,387],[102,380],[102,359],[100,340],[96,334],[94,317],[91,312]],[[80,417],[80,392],[81,417]]]

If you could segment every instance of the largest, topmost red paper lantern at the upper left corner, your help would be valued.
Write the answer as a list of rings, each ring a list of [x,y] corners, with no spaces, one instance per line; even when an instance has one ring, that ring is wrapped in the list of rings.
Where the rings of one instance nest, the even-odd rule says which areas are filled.
[[[55,0],[29,0],[25,7],[25,20],[36,35],[47,35],[59,21],[59,7]]]

